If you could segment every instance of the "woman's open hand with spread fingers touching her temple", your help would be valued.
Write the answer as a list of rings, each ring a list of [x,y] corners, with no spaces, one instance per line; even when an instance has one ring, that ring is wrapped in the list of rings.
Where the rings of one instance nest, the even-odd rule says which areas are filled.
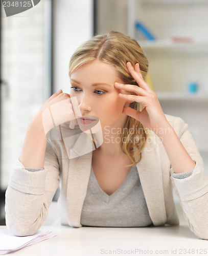
[[[117,89],[134,93],[134,95],[120,93],[119,96],[122,99],[139,102],[145,108],[140,112],[129,106],[124,106],[123,113],[140,121],[145,127],[153,132],[157,131],[160,127],[164,127],[167,124],[169,125],[168,120],[161,109],[156,93],[151,90],[142,77],[140,65],[136,63],[133,68],[131,63],[127,62],[126,66],[139,87],[132,84],[122,84],[117,82],[115,82],[114,86]]]

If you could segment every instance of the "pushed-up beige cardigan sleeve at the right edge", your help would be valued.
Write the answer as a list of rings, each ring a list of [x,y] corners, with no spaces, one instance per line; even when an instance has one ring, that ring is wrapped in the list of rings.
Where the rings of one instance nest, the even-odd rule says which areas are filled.
[[[178,123],[180,128],[176,128],[176,133],[196,165],[190,171],[192,174],[182,179],[175,176],[171,167],[171,181],[190,230],[200,239],[208,240],[208,175],[188,124],[181,118],[178,118]]]

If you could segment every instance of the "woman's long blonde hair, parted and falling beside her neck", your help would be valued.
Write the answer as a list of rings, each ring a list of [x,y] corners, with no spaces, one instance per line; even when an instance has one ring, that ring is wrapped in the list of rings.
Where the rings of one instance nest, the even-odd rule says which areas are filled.
[[[126,63],[128,61],[134,66],[140,63],[140,70],[144,79],[148,72],[148,60],[136,40],[128,35],[117,31],[101,33],[84,42],[72,55],[70,60],[69,75],[81,65],[92,60],[101,60],[118,71],[120,79],[125,84],[134,84],[136,81],[130,75]],[[132,102],[130,108],[142,111],[141,103]],[[128,133],[130,128],[136,129],[138,133]],[[131,159],[133,166],[141,161],[142,150],[145,146],[148,133],[140,121],[128,116],[121,135],[121,146],[123,152]],[[137,158],[137,160],[135,160]]]

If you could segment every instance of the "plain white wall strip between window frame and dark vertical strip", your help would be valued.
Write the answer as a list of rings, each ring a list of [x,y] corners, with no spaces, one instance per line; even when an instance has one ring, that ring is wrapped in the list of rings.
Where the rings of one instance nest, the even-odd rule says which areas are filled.
[[[55,0],[54,11],[54,87],[69,93],[70,58],[93,36],[93,1]]]

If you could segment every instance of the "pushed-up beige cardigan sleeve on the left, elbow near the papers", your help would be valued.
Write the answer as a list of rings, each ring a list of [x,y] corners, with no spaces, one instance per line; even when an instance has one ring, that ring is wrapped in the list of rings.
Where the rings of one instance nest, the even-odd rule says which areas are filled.
[[[5,200],[8,229],[16,236],[34,234],[47,217],[58,186],[59,164],[55,149],[48,140],[43,169],[31,172],[19,159],[12,169]]]

